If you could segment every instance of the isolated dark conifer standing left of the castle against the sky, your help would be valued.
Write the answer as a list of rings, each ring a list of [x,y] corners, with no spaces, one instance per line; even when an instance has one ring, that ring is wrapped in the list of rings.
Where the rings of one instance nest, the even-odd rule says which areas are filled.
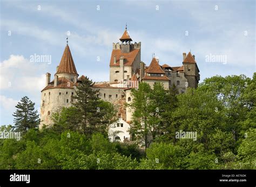
[[[16,112],[12,114],[14,118],[15,131],[25,133],[31,128],[37,128],[40,123],[39,114],[35,110],[35,103],[29,100],[28,96],[24,96],[21,102],[15,106]]]

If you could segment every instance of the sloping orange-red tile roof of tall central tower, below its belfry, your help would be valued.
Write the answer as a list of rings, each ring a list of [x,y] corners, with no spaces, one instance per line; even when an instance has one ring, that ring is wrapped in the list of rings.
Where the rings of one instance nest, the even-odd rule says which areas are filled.
[[[131,50],[130,53],[122,53],[121,50],[112,50],[110,58],[110,66],[120,66],[120,57],[124,56],[124,66],[131,66],[140,49]],[[116,64],[114,64],[114,56],[116,56]]]

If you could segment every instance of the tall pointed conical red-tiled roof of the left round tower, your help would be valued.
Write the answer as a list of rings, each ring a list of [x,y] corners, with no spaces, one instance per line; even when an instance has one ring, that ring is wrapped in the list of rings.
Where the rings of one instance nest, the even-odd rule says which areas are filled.
[[[58,73],[72,73],[72,74],[77,74],[76,66],[73,61],[69,45],[66,45],[65,50],[62,55],[62,59],[60,60]]]

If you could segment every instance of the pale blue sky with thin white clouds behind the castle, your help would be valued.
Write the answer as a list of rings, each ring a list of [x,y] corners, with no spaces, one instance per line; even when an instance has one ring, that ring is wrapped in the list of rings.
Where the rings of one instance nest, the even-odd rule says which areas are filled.
[[[0,125],[13,124],[15,105],[25,95],[40,106],[45,73],[53,74],[66,45],[79,75],[109,80],[112,43],[125,23],[142,42],[142,60],[182,65],[196,56],[201,81],[214,75],[245,74],[255,65],[255,1],[1,1]],[[40,9],[40,10],[38,10]],[[30,62],[33,54],[51,63]],[[207,62],[206,56],[227,61]],[[99,57],[99,61],[97,61]],[[52,78],[53,79],[53,78]]]

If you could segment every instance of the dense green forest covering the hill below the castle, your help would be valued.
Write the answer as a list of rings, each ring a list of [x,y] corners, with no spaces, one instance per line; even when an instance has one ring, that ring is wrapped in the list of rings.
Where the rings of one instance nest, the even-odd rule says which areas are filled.
[[[256,73],[207,78],[178,95],[175,86],[140,83],[127,106],[133,141],[124,143],[109,141],[116,107],[91,85],[84,80],[77,102],[41,130],[35,103],[22,98],[14,126],[0,129],[22,136],[2,135],[0,169],[256,169]],[[177,138],[180,130],[196,132],[196,140]]]

